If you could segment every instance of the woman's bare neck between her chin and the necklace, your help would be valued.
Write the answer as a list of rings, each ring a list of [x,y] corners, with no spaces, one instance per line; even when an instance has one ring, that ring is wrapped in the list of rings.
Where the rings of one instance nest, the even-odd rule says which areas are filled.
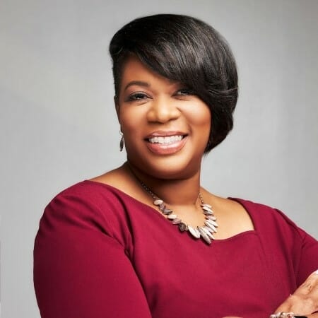
[[[195,204],[200,191],[200,170],[182,179],[160,179],[146,174],[131,163],[125,163],[127,171],[136,179],[136,182],[143,182],[146,186],[163,199],[165,203],[172,206],[184,206]],[[145,190],[146,191],[146,190]]]

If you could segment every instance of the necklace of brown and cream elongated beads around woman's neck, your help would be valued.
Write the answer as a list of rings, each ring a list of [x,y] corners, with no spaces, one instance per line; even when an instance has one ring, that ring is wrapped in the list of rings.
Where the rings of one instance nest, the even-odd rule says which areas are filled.
[[[135,176],[136,177],[136,176]],[[181,218],[178,218],[170,208],[167,208],[165,202],[156,196],[151,189],[149,189],[146,184],[144,184],[139,178],[136,177],[143,189],[148,192],[153,198],[153,205],[157,206],[159,211],[167,217],[168,220],[172,221],[173,225],[177,225],[181,232],[188,231],[192,237],[199,239],[201,237],[208,245],[211,244],[211,240],[214,240],[213,233],[216,233],[218,228],[218,223],[216,223],[216,217],[214,216],[212,206],[210,204],[205,204],[204,199],[199,192],[199,199],[201,201],[201,208],[204,213],[204,225],[197,226],[196,228],[192,227],[189,224],[182,222]]]

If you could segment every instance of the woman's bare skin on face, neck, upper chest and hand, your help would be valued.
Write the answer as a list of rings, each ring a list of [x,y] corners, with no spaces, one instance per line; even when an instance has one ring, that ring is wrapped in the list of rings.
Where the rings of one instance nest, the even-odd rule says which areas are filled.
[[[245,208],[200,186],[201,160],[213,127],[208,106],[194,92],[153,72],[132,56],[125,63],[119,96],[114,100],[127,162],[93,181],[110,184],[153,208],[153,199],[136,180],[137,176],[179,218],[194,227],[204,222],[198,199],[201,192],[218,218],[216,240],[254,230]],[[177,131],[186,137],[176,151],[153,151],[146,137],[158,131],[160,134]],[[160,216],[165,218],[162,213]],[[318,318],[318,314],[311,314],[318,310],[317,286],[318,275],[314,274],[278,307],[277,312],[293,311]]]

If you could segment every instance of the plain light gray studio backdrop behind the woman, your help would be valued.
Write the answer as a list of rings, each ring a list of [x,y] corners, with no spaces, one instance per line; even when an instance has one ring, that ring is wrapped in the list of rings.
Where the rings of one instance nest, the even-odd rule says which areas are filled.
[[[107,46],[149,13],[206,20],[237,58],[235,129],[204,158],[202,184],[281,208],[318,237],[318,1],[1,1],[4,318],[40,317],[32,252],[48,201],[124,161]]]

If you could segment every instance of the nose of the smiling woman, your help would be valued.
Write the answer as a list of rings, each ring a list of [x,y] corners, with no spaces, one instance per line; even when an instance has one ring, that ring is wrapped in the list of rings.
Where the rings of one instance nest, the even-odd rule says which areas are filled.
[[[177,101],[171,98],[157,98],[151,102],[148,110],[147,119],[149,122],[160,122],[164,124],[170,120],[177,119],[180,111]]]

